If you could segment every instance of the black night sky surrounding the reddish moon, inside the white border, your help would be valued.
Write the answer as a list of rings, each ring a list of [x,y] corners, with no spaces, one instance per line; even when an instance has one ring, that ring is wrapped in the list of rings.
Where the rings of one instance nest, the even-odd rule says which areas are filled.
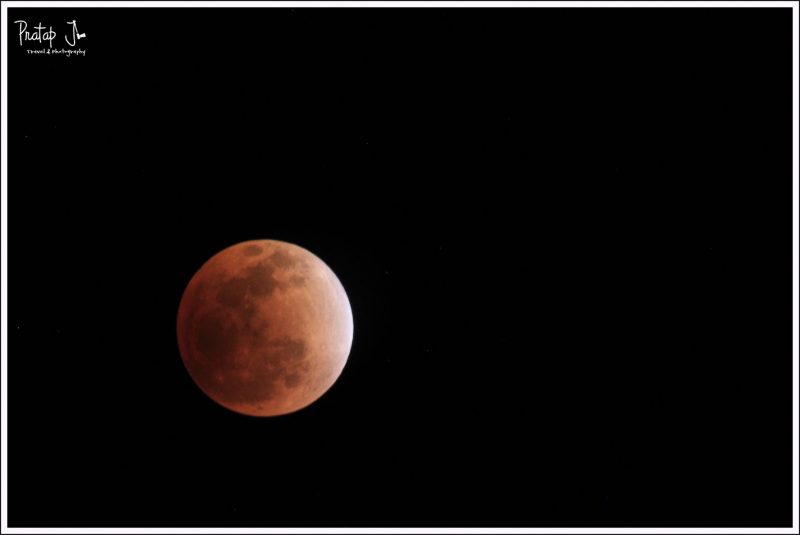
[[[790,9],[9,22],[11,526],[791,524]],[[353,310],[283,417],[178,352],[251,239]]]

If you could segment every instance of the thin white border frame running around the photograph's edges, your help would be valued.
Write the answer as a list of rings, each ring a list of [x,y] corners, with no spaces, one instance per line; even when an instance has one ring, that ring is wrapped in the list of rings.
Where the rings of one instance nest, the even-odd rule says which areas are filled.
[[[792,372],[793,372],[793,502],[794,511],[792,516],[791,528],[9,528],[8,527],[8,27],[9,7],[569,7],[569,8],[603,8],[603,7],[790,7],[793,12],[793,72],[792,72],[792,129],[793,129],[793,157],[792,157],[792,193],[793,193],[793,271],[792,271],[792,309],[793,309],[793,335],[792,335]],[[0,127],[0,158],[2,158],[2,168],[0,169],[0,379],[2,383],[2,412],[0,418],[0,530],[8,534],[25,533],[54,533],[54,534],[95,534],[95,533],[774,533],[774,534],[797,534],[800,533],[800,494],[798,493],[798,464],[800,460],[800,443],[798,442],[798,406],[800,405],[800,394],[798,394],[798,374],[800,373],[798,361],[800,360],[800,246],[798,239],[800,236],[800,173],[798,172],[798,153],[800,153],[800,138],[798,137],[798,11],[800,11],[796,1],[688,1],[688,2],[665,2],[665,1],[597,1],[597,2],[490,2],[490,1],[334,1],[334,2],[291,2],[291,1],[67,1],[67,2],[24,2],[8,1],[2,2],[0,10],[0,46],[2,47],[2,103],[0,103],[0,117],[2,126]]]

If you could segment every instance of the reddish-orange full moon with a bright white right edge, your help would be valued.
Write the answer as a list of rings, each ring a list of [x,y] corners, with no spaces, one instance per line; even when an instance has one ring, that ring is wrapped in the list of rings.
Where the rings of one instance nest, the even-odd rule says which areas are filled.
[[[342,372],[353,314],[336,275],[309,251],[242,242],[192,277],[178,309],[186,369],[211,399],[251,416],[306,407]]]

